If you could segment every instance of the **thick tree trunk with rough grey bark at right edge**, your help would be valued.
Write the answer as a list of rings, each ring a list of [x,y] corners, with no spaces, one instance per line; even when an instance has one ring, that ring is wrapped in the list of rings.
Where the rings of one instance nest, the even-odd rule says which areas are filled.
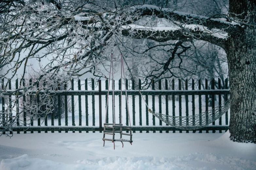
[[[253,1],[230,0],[230,12],[250,11],[249,22],[255,22]],[[245,15],[244,15],[245,16]],[[244,17],[243,16],[243,17]],[[231,34],[226,45],[230,78],[230,139],[256,143],[256,27],[247,26]]]

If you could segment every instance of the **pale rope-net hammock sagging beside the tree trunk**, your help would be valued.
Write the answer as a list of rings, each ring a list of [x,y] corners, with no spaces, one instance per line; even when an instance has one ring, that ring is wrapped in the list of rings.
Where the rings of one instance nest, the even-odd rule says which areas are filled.
[[[217,107],[214,107],[212,110],[192,116],[170,116],[157,112],[152,112],[150,109],[149,112],[151,112],[154,116],[156,116],[158,119],[162,120],[166,124],[175,128],[182,130],[195,130],[208,126],[213,121],[218,120],[224,113],[229,110],[229,108],[230,100]]]

